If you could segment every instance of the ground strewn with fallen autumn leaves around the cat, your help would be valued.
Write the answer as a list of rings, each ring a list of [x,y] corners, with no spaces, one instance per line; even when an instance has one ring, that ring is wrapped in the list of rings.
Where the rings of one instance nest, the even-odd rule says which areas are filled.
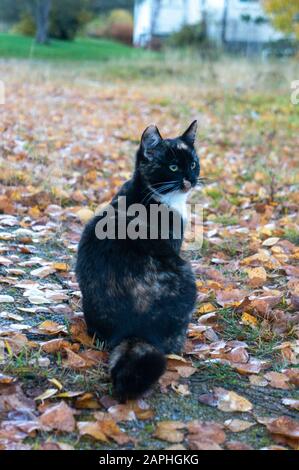
[[[298,448],[296,77],[292,62],[1,62],[0,448]],[[119,405],[86,335],[77,243],[143,129],[194,118],[196,312],[160,383]]]

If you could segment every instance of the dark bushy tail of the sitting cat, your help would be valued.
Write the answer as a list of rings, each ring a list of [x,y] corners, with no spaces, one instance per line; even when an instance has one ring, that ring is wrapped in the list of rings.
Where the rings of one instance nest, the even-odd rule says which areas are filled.
[[[149,343],[138,339],[123,340],[110,358],[114,393],[121,403],[146,392],[166,368],[164,354]]]

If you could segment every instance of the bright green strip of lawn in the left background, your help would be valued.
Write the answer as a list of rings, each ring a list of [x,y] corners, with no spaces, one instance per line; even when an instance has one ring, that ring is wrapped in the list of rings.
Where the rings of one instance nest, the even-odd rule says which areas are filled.
[[[134,49],[108,39],[78,38],[74,41],[52,39],[48,45],[39,45],[31,37],[0,34],[0,58],[107,61],[119,58],[135,59],[147,54],[141,49]]]

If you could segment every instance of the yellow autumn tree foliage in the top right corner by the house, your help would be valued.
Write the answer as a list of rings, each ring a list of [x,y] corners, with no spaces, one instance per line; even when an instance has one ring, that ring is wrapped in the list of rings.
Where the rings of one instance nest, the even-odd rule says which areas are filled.
[[[299,39],[299,0],[264,0],[264,6],[277,29]]]

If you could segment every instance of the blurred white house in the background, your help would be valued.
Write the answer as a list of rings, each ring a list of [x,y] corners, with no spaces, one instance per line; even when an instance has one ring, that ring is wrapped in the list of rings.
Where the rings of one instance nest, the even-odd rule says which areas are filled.
[[[203,18],[208,37],[217,43],[263,44],[282,37],[260,0],[136,0],[134,44],[146,46]]]

